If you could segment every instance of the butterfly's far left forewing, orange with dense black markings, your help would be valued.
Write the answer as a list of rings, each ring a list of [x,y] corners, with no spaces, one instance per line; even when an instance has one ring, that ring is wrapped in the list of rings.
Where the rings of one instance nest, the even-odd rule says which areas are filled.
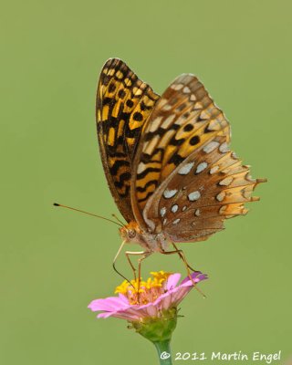
[[[124,218],[134,220],[130,204],[133,155],[141,129],[159,96],[118,58],[101,70],[97,93],[97,128],[103,168]]]

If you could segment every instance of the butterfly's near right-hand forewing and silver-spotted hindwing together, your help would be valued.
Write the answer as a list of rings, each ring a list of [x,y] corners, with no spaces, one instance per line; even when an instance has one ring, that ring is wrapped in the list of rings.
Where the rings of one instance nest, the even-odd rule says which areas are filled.
[[[247,212],[260,180],[250,178],[229,141],[229,123],[203,84],[193,75],[174,80],[143,127],[135,160],[132,183],[151,231],[173,242],[199,241],[222,230],[225,218]]]

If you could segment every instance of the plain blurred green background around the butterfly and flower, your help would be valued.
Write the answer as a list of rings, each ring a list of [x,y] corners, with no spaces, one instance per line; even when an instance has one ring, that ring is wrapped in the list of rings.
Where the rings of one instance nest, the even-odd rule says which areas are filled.
[[[126,322],[87,308],[120,284],[116,226],[52,206],[117,213],[94,120],[109,57],[159,93],[183,72],[201,78],[231,121],[237,155],[268,178],[249,214],[183,246],[210,279],[207,299],[193,290],[181,306],[173,354],[282,350],[281,363],[292,355],[291,11],[289,1],[255,0],[3,3],[1,364],[157,361]],[[130,276],[125,260],[119,267]],[[184,275],[177,257],[152,255],[144,276],[160,269]]]

